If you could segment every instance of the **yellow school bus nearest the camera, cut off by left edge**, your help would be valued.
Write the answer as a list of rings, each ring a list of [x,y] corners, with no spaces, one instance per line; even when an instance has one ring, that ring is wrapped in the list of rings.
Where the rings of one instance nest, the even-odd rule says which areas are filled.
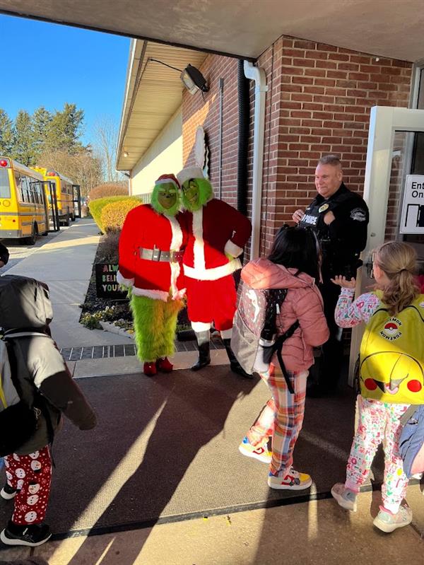
[[[37,235],[48,231],[42,175],[0,156],[0,239],[18,238],[34,245]]]

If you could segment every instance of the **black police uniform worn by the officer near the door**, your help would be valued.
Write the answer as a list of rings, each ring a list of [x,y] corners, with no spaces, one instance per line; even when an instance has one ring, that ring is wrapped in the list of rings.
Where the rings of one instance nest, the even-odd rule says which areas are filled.
[[[334,214],[335,219],[327,225],[324,216],[329,211]],[[322,246],[323,281],[319,289],[324,300],[324,313],[329,325],[330,337],[322,346],[319,368],[315,366],[312,370],[322,390],[336,386],[343,356],[341,328],[334,321],[340,287],[330,279],[338,274],[348,279],[356,276],[356,269],[361,264],[360,252],[367,243],[368,221],[369,212],[364,199],[348,190],[342,182],[338,190],[328,199],[317,194],[310,206],[307,206],[305,216],[299,223],[299,226],[314,229]]]

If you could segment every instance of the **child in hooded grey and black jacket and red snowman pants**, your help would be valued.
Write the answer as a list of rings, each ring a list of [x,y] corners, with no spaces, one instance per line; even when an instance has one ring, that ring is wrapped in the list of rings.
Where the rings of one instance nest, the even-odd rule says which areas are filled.
[[[13,384],[20,400],[38,412],[33,436],[4,458],[7,482],[0,496],[14,499],[13,516],[0,532],[6,545],[36,547],[52,535],[43,520],[52,476],[49,443],[61,427],[61,414],[81,430],[92,429],[96,423],[93,409],[49,337],[51,318],[45,284],[25,276],[0,277],[0,326],[9,346]]]

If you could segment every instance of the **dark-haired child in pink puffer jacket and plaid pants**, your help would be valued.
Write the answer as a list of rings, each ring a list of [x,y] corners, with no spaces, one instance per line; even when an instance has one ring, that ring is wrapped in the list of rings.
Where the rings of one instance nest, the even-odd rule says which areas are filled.
[[[277,314],[277,333],[284,334],[293,322],[299,327],[283,344],[283,361],[294,394],[273,356],[269,371],[261,373],[272,398],[240,444],[243,455],[270,463],[271,489],[307,489],[309,474],[293,469],[293,450],[302,428],[308,368],[314,362],[312,348],[329,337],[322,297],[315,285],[319,280],[319,244],[312,231],[283,226],[278,231],[268,259],[249,262],[242,280],[253,289],[288,289]],[[267,443],[272,437],[272,454]]]

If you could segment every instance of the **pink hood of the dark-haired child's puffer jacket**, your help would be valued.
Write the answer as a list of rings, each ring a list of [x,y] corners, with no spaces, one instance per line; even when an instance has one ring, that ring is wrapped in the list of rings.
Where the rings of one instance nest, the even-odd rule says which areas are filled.
[[[252,289],[302,289],[313,287],[315,279],[297,269],[286,269],[268,259],[254,259],[242,269],[242,280]]]

